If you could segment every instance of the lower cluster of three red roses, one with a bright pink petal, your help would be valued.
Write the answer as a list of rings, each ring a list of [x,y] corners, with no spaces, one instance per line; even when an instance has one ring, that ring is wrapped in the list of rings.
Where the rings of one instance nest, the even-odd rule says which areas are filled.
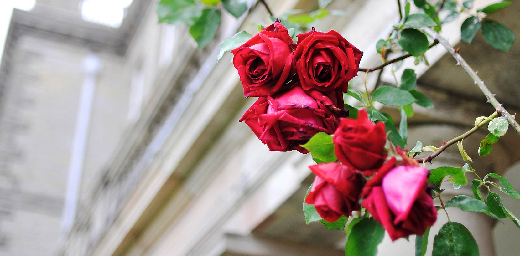
[[[392,240],[412,234],[422,235],[437,219],[437,210],[426,187],[426,168],[397,152],[402,158],[386,159],[383,123],[373,124],[364,110],[358,119],[342,118],[334,132],[335,155],[339,163],[309,166],[316,174],[305,202],[314,204],[326,221],[365,207],[380,222]],[[365,177],[375,175],[365,183]]]

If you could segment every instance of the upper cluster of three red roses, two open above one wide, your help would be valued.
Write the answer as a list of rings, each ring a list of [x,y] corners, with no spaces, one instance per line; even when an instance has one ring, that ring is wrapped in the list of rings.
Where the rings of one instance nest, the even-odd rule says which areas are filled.
[[[335,31],[297,35],[279,22],[233,49],[245,97],[259,97],[240,119],[272,151],[308,153],[305,144],[332,134],[344,110],[343,92],[357,75],[363,52]]]

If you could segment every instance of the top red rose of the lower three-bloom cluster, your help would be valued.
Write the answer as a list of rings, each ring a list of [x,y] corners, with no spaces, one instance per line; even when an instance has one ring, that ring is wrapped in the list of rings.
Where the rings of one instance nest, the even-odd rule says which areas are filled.
[[[360,170],[365,176],[372,176],[386,158],[385,125],[370,122],[365,110],[359,111],[357,120],[341,118],[333,141],[337,159],[344,165]]]

